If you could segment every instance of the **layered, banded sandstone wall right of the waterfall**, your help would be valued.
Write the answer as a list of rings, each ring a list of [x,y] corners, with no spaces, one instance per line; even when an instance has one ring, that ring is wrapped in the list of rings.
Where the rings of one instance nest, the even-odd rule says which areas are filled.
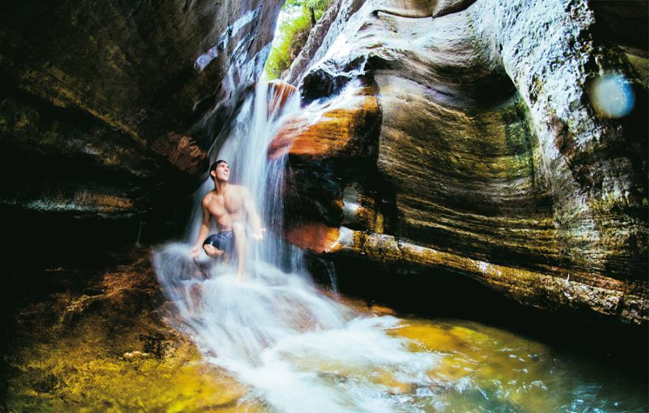
[[[328,40],[290,69],[306,102],[329,102],[276,140],[296,188],[287,205],[310,207],[289,210],[313,211],[287,237],[334,259],[459,271],[534,307],[646,322],[647,47],[620,22],[644,15],[646,28],[646,3],[625,6],[638,13],[341,1]],[[606,73],[634,93],[625,116],[596,109]],[[327,109],[358,90],[376,109]]]

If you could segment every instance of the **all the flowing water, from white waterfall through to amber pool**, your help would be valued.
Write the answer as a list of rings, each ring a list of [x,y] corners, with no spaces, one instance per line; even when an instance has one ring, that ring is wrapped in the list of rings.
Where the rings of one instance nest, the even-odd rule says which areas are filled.
[[[231,165],[231,181],[250,189],[268,232],[250,244],[247,279],[231,264],[189,255],[197,237],[200,200],[187,244],[154,255],[176,328],[197,343],[204,360],[244,386],[236,410],[250,412],[628,412],[646,409],[637,384],[587,374],[586,364],[511,333],[464,321],[429,321],[376,314],[321,293],[301,252],[282,233],[284,160],[267,148],[291,113],[293,97],[269,108],[260,82],[243,104],[215,159]],[[346,103],[345,103],[346,102]],[[271,99],[272,104],[272,99]],[[272,106],[272,105],[271,105]],[[275,105],[278,106],[278,105]]]

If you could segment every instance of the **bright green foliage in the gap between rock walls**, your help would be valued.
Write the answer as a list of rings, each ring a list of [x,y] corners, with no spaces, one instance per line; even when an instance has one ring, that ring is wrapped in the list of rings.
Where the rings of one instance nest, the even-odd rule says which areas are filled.
[[[330,0],[287,0],[282,7],[279,30],[273,48],[266,60],[266,77],[279,78],[289,68],[292,54],[296,55],[304,46],[313,21],[318,21],[327,10]],[[304,39],[303,41],[300,41]]]

